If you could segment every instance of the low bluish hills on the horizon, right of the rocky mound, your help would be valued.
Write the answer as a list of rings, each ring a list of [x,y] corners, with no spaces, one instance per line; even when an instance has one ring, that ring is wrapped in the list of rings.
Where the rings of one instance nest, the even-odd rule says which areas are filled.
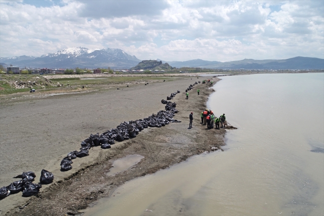
[[[165,61],[162,61],[165,62]],[[215,69],[324,69],[324,59],[311,57],[294,57],[288,59],[254,60],[243,59],[239,61],[205,61],[201,59],[189,61],[169,61],[173,67],[202,67]]]

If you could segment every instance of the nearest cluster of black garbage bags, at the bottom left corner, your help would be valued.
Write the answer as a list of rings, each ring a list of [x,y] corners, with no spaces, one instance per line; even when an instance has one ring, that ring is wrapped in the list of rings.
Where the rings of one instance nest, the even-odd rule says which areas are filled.
[[[21,178],[21,180],[16,181],[8,185],[7,187],[0,188],[0,200],[8,197],[10,194],[17,194],[22,191],[22,197],[30,197],[39,192],[42,187],[39,184],[32,183],[35,180],[34,172],[23,172],[13,178]],[[54,176],[51,172],[47,170],[42,170],[40,172],[39,182],[41,184],[50,184],[54,180]]]

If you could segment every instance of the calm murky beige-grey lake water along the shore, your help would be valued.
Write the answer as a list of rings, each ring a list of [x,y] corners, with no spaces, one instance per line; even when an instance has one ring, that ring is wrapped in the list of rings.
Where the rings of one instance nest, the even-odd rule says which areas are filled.
[[[324,74],[221,78],[207,105],[239,128],[225,151],[130,181],[84,216],[324,215]]]

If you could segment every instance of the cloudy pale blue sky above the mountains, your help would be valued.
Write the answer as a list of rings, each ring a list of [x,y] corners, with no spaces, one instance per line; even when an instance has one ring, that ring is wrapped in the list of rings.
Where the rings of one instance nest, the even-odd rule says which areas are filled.
[[[324,0],[0,0],[0,56],[119,48],[141,60],[324,58]]]

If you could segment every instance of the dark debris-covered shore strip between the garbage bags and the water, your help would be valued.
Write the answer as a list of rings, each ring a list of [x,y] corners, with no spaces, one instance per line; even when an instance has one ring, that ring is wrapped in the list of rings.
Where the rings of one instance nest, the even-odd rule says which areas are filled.
[[[218,78],[213,79],[219,80]],[[194,82],[195,80],[191,79],[188,83],[193,84]],[[195,95],[197,86],[200,88],[199,96]],[[95,150],[90,151],[92,162],[88,160],[87,163],[84,163],[81,159],[81,163],[79,162],[76,166],[74,163],[70,173],[62,174],[65,176],[61,177],[62,180],[55,181],[54,179],[55,183],[42,189],[41,193],[28,199],[25,204],[7,212],[6,215],[26,215],[37,211],[41,215],[77,215],[80,214],[79,210],[87,208],[89,204],[101,197],[109,196],[126,181],[166,169],[193,155],[214,151],[211,147],[221,150],[221,146],[225,145],[223,138],[226,131],[207,131],[204,130],[206,126],[199,124],[200,112],[206,107],[207,98],[214,91],[209,89],[210,87],[209,84],[196,85],[193,90],[189,91],[189,100],[184,99],[184,92],[179,89],[182,90],[181,93],[177,94],[172,102],[177,103],[176,109],[180,111],[174,116],[174,119],[182,121],[181,123],[170,123],[162,128],[145,129],[137,138],[121,143],[116,142],[112,149],[107,151],[95,147]],[[163,109],[163,106],[161,104],[159,110]],[[193,128],[188,130],[190,111],[194,112],[194,121]],[[212,140],[209,139],[211,131],[215,136],[215,139]],[[122,173],[114,177],[107,177],[106,173],[114,160],[132,154],[142,155],[145,158],[129,169],[128,174]]]

